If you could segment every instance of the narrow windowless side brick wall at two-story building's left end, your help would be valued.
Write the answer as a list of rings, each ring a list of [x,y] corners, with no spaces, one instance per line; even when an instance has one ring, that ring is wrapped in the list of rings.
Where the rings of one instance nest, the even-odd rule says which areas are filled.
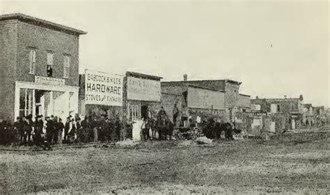
[[[17,20],[0,22],[0,119],[14,120]]]

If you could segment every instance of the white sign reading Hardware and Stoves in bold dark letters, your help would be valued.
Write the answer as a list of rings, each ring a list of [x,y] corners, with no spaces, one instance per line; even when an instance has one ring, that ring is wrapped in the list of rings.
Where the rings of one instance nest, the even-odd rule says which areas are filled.
[[[123,76],[86,69],[85,104],[123,106]]]

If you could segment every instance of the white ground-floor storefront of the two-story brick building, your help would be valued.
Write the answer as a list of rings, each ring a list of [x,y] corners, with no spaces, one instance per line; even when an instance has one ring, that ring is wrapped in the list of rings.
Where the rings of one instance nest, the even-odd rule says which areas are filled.
[[[15,118],[51,115],[65,119],[78,113],[79,87],[62,78],[35,76],[35,82],[15,81]]]

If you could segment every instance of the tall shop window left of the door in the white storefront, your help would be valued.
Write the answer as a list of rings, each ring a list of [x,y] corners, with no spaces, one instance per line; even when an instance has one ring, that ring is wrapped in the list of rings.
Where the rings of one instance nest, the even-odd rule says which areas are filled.
[[[19,89],[19,116],[32,115],[33,90]]]

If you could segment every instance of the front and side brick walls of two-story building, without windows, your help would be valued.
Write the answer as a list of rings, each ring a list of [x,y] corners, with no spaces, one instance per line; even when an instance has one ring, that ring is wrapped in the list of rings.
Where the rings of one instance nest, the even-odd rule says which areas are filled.
[[[36,74],[47,76],[47,50],[54,53],[53,76],[63,78],[63,55],[70,55],[65,85],[79,86],[79,36],[11,19],[0,22],[0,118],[14,121],[15,80],[34,82],[29,52],[36,48]]]

